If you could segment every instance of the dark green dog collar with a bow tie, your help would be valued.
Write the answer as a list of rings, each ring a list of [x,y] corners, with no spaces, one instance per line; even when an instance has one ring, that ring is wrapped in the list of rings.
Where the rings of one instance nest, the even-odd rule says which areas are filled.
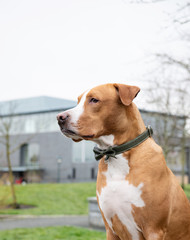
[[[130,150],[131,148],[134,148],[144,142],[147,138],[151,137],[153,134],[153,130],[151,126],[146,127],[146,131],[144,131],[142,134],[140,134],[138,137],[135,139],[126,142],[124,144],[121,144],[119,146],[110,146],[107,149],[100,149],[98,147],[94,147],[93,151],[95,154],[95,159],[98,161],[100,160],[103,156],[106,155],[106,159],[108,160],[109,157],[115,157],[115,155],[118,155],[120,153],[126,152]]]

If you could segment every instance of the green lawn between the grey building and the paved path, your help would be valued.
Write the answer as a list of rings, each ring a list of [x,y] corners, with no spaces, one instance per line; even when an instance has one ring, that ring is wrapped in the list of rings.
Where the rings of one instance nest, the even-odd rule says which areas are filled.
[[[96,184],[27,184],[17,185],[17,201],[20,204],[35,205],[30,209],[0,209],[0,214],[61,215],[87,214],[87,198],[95,196]],[[0,199],[8,196],[6,204],[11,202],[10,187],[0,187]]]

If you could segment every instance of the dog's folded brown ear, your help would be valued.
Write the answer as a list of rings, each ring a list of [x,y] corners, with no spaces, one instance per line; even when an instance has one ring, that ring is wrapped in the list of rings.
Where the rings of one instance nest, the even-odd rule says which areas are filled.
[[[140,88],[136,86],[115,83],[114,87],[118,91],[121,102],[126,106],[129,106],[140,92]]]

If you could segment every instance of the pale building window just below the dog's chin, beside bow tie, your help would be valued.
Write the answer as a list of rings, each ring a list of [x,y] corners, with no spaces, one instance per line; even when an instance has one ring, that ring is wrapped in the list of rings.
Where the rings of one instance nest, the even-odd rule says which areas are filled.
[[[94,161],[93,148],[95,143],[81,141],[73,144],[73,162],[92,162]]]

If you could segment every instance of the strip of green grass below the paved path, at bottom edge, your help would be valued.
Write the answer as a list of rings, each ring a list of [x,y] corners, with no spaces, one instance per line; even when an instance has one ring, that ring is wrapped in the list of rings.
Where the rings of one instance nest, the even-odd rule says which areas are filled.
[[[105,240],[105,232],[77,227],[21,228],[0,231],[1,240]]]

